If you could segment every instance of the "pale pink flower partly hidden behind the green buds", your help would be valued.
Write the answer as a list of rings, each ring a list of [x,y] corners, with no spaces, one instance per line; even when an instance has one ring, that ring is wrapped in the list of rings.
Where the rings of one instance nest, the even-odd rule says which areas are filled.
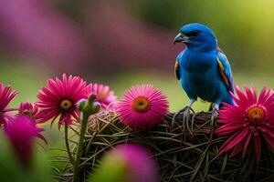
[[[111,90],[110,86],[90,84],[87,87],[86,97],[89,97],[91,94],[97,96],[95,101],[100,103],[102,109],[107,109],[117,100],[117,96],[114,95],[114,92]]]

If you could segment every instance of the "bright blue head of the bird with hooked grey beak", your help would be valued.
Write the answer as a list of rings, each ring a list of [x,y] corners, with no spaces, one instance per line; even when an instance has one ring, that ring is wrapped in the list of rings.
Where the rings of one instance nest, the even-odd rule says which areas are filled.
[[[214,32],[206,25],[193,23],[184,25],[174,38],[174,44],[183,42],[188,48],[202,51],[216,49],[217,41]]]

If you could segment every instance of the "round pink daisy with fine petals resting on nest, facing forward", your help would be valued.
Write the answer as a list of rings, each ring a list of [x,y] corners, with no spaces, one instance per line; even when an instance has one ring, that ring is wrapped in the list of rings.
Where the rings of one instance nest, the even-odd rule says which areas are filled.
[[[168,102],[162,92],[151,85],[132,86],[117,103],[121,122],[132,128],[147,129],[163,122]]]

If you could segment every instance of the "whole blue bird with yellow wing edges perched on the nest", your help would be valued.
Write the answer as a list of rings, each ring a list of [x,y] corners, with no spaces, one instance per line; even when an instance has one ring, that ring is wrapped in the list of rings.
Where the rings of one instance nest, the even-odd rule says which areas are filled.
[[[174,44],[186,47],[177,56],[174,71],[190,102],[184,107],[184,120],[188,122],[191,106],[197,97],[213,103],[212,125],[222,102],[233,105],[234,93],[231,68],[227,56],[218,47],[216,35],[206,25],[184,25],[174,38]]]

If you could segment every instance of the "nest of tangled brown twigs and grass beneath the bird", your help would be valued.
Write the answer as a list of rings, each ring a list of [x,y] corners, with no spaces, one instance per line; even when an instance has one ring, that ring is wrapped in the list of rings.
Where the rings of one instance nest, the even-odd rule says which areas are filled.
[[[85,150],[80,165],[82,181],[99,164],[102,155],[117,144],[135,142],[151,149],[161,168],[162,181],[274,181],[274,155],[266,146],[257,162],[251,146],[242,158],[218,155],[226,137],[214,135],[210,113],[193,114],[194,125],[184,126],[183,114],[169,114],[163,124],[148,131],[124,126],[113,113],[90,120]],[[190,121],[191,123],[191,121]],[[266,149],[264,149],[266,148]],[[61,174],[70,181],[71,167]]]

